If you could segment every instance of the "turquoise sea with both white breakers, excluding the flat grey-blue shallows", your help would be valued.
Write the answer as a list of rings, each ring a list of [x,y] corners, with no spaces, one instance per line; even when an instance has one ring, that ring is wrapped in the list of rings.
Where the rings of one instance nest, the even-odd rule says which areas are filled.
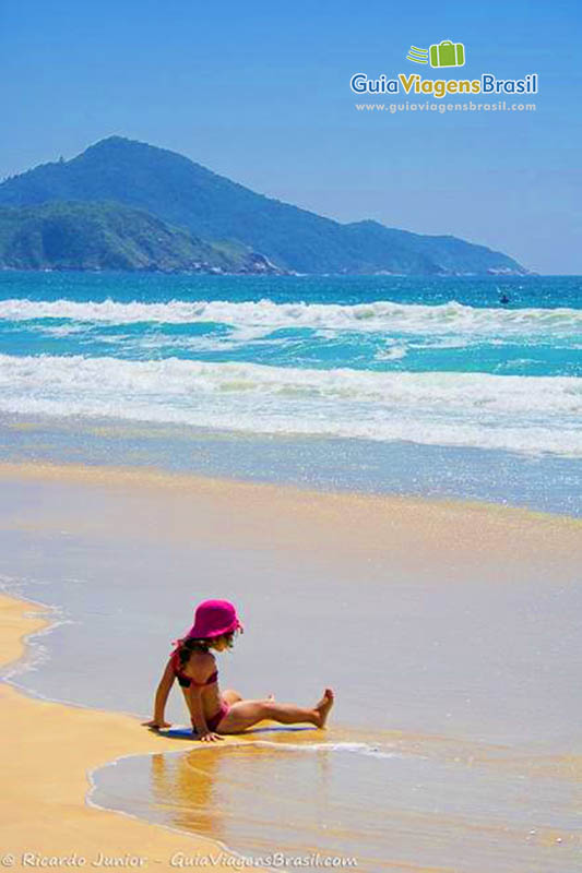
[[[0,411],[578,456],[581,306],[577,277],[5,273]]]

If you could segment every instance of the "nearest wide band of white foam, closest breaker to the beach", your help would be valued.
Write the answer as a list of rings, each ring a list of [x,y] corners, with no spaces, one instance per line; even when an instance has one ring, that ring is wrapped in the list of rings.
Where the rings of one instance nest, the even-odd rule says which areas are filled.
[[[0,356],[0,409],[582,455],[582,379]]]

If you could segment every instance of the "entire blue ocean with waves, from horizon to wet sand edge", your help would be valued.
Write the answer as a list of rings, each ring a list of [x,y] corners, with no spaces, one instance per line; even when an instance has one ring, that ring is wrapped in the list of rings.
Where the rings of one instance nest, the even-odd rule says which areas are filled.
[[[578,515],[581,350],[579,277],[5,272],[0,457]]]

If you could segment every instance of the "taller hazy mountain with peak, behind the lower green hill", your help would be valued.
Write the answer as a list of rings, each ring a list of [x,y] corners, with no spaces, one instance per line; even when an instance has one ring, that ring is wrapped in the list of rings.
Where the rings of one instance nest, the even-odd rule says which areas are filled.
[[[55,201],[122,203],[188,230],[199,242],[226,240],[239,253],[260,253],[284,271],[527,272],[506,254],[454,237],[421,236],[376,222],[342,225],[257,194],[182,155],[121,136],[0,184],[0,206]]]

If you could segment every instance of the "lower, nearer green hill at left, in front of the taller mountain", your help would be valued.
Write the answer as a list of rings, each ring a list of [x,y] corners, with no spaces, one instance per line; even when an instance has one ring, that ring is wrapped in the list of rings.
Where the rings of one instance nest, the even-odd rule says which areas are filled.
[[[120,203],[0,207],[0,267],[271,272],[244,247],[211,246]]]

